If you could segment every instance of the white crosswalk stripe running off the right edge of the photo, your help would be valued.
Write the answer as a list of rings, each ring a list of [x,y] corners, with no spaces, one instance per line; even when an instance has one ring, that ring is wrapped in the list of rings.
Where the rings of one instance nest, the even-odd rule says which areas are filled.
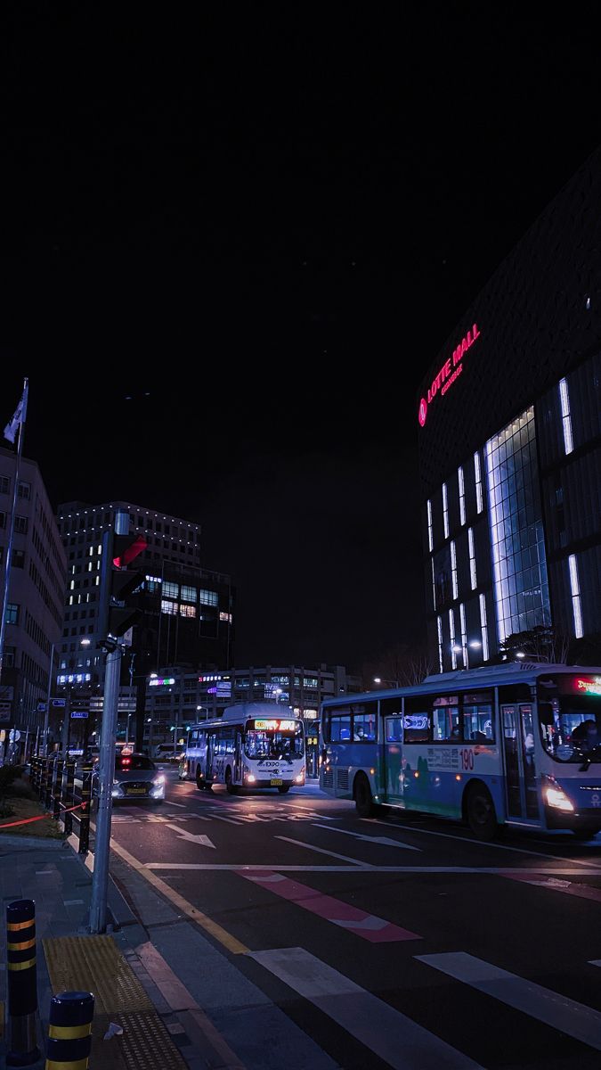
[[[507,969],[499,969],[466,951],[416,954],[415,958],[448,977],[463,981],[478,992],[484,992],[508,1007],[521,1010],[554,1029],[560,1029],[568,1037],[582,1040],[590,1048],[601,1051],[601,1012],[592,1007],[568,999],[559,992],[544,989],[542,984],[518,977]]]

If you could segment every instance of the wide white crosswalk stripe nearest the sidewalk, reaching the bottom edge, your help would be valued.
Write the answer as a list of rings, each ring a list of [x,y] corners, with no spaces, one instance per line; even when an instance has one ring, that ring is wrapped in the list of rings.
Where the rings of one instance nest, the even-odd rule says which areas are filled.
[[[392,1070],[482,1070],[429,1029],[361,989],[302,947],[250,951],[255,959],[298,995],[341,1025]]]

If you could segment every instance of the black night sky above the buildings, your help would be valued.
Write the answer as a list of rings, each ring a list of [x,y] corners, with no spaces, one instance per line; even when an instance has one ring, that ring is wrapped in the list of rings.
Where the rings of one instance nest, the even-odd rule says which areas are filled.
[[[29,376],[53,504],[202,523],[238,664],[358,669],[422,639],[419,382],[601,140],[596,9],[290,6],[7,5],[1,418]]]

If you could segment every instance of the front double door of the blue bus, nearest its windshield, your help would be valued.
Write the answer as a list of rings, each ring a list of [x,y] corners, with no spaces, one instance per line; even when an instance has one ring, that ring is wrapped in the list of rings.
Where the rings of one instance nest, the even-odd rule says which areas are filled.
[[[502,705],[505,800],[507,816],[540,821],[535,751],[534,706],[530,702]]]

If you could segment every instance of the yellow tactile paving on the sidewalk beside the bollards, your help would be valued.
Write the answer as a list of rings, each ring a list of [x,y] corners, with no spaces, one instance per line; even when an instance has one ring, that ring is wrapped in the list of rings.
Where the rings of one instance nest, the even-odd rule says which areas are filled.
[[[42,944],[52,992],[94,994],[94,1070],[184,1070],[184,1058],[112,936],[59,936]],[[104,1040],[110,1022],[123,1034]]]

